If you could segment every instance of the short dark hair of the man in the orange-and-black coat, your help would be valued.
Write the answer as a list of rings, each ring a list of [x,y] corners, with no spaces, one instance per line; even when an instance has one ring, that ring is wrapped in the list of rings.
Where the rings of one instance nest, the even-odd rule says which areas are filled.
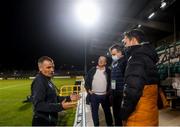
[[[137,39],[139,43],[146,41],[145,34],[140,29],[133,29],[127,32],[124,32],[124,36],[127,36],[129,39],[132,39],[133,37]]]

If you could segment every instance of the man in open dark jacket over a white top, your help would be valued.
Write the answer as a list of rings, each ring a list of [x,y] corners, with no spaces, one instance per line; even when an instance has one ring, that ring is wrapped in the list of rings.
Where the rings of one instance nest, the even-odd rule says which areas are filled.
[[[99,126],[99,104],[101,104],[104,110],[107,126],[112,126],[113,121],[108,97],[109,87],[110,70],[106,68],[106,57],[100,56],[98,65],[89,70],[85,80],[85,88],[90,98],[94,126]]]

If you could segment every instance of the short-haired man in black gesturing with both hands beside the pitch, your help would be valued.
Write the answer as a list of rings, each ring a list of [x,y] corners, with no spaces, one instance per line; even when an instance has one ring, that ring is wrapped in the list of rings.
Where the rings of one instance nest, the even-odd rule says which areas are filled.
[[[32,126],[56,126],[58,112],[73,108],[74,103],[66,101],[78,100],[78,95],[70,97],[58,96],[58,90],[52,83],[54,62],[50,57],[43,56],[38,60],[39,74],[31,85],[31,95],[34,108]]]

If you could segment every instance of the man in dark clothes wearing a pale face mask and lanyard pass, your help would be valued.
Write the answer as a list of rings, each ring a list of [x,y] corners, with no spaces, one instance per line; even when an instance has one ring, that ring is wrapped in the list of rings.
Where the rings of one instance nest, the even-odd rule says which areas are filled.
[[[113,115],[115,120],[115,126],[122,126],[120,111],[123,97],[126,59],[123,55],[123,47],[118,44],[112,45],[109,51],[113,60],[111,65],[111,94]]]

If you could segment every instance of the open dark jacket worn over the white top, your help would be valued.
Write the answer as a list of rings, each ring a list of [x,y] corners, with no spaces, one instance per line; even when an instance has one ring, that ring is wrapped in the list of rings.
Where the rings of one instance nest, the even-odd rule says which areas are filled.
[[[96,73],[96,67],[92,67],[89,71],[88,71],[88,74],[86,76],[86,79],[85,79],[85,88],[86,88],[86,91],[88,92],[89,90],[92,90],[92,81],[93,81],[93,77],[94,77],[94,74]],[[106,92],[109,93],[109,90],[110,90],[110,85],[111,85],[111,71],[109,68],[106,68],[106,71],[105,71],[105,74],[106,74],[106,78],[107,78],[107,90]]]

